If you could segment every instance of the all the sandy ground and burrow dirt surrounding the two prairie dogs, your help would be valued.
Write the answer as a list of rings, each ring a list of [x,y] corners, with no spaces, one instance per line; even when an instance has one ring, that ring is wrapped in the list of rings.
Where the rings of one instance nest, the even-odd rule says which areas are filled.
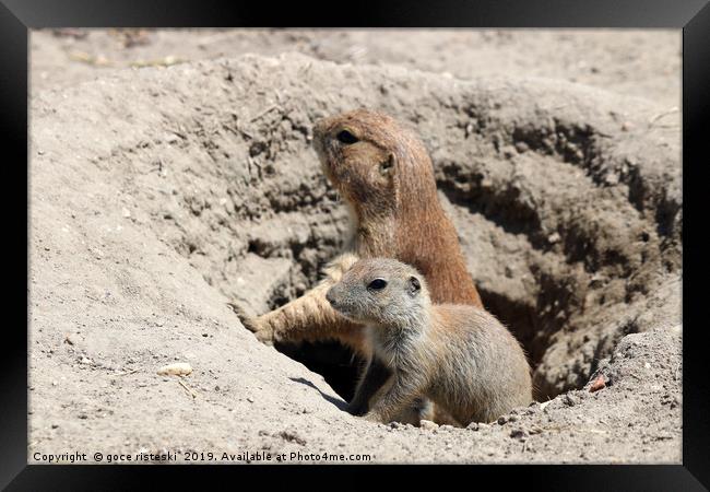
[[[31,43],[31,460],[681,461],[679,33]],[[310,137],[360,105],[422,136],[542,403],[465,430],[369,424],[227,307],[294,298],[342,246]],[[170,362],[193,372],[156,374]]]

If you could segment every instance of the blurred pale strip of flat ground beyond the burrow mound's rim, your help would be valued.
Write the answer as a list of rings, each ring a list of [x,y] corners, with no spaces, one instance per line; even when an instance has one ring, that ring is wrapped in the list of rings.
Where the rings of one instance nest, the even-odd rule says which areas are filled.
[[[40,30],[31,37],[31,83],[34,91],[129,67],[291,50],[460,79],[563,79],[677,107],[681,37],[677,30]]]

